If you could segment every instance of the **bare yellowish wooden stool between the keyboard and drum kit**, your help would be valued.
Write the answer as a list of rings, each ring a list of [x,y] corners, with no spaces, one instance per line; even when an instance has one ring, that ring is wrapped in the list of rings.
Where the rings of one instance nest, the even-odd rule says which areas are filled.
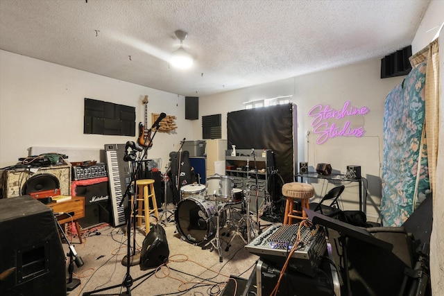
[[[150,214],[154,213],[157,221],[160,220],[159,212],[157,211],[157,202],[155,200],[154,180],[143,179],[136,180],[137,185],[137,226],[142,226],[142,218],[145,218],[145,235],[150,232]],[[149,186],[149,188],[148,188]],[[149,190],[148,190],[149,189]],[[153,203],[153,209],[150,209],[150,198]],[[131,200],[133,204],[133,199]]]

